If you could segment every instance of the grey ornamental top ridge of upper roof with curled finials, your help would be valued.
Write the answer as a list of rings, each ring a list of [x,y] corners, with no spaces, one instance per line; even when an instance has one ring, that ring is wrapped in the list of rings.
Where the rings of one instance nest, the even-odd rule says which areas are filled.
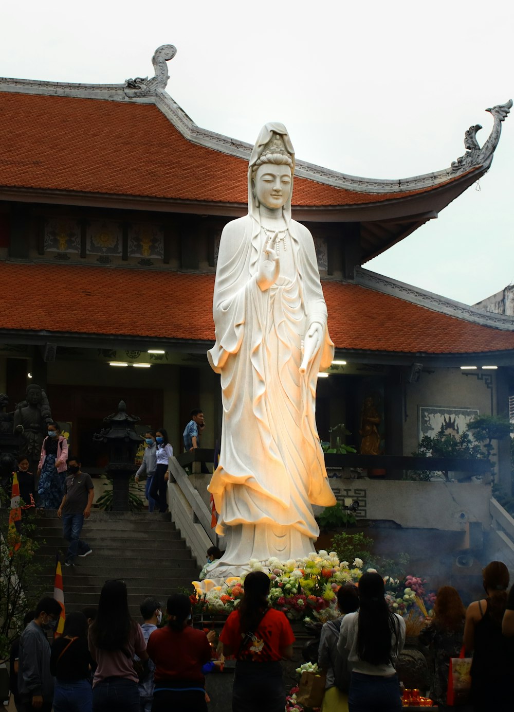
[[[125,80],[124,84],[82,84],[68,82],[47,82],[40,80],[0,78],[0,92],[28,94],[50,94],[76,98],[128,101],[128,103],[154,103],[174,127],[189,141],[215,151],[242,159],[249,159],[252,145],[229,136],[198,127],[191,117],[166,93],[169,75],[167,62],[176,55],[176,47],[161,45],[152,56],[154,77],[136,77]],[[360,193],[398,193],[438,187],[439,184],[457,179],[471,170],[481,168],[485,172],[491,165],[498,145],[501,123],[505,120],[513,101],[486,109],[493,116],[493,129],[482,147],[478,145],[476,133],[481,125],[476,124],[464,135],[464,155],[439,171],[412,176],[405,179],[374,179],[353,176],[334,171],[309,162],[296,160],[295,174],[332,187]]]

